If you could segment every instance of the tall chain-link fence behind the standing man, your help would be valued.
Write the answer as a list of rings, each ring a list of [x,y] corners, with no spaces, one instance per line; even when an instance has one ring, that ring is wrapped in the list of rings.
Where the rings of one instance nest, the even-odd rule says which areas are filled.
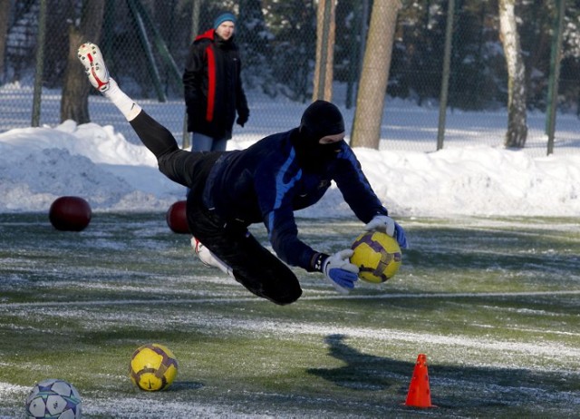
[[[9,6],[0,18],[5,21],[0,22],[0,31],[5,27],[5,34],[0,34],[0,48],[4,49],[0,132],[31,125],[35,57],[40,47],[44,48],[40,123],[54,126],[60,122],[68,32],[79,19],[83,1],[43,1],[51,10],[43,45],[37,44],[41,0],[3,2]],[[517,2],[527,73],[527,148],[545,150],[556,5],[563,1]],[[304,105],[312,99],[317,5],[315,0],[106,0],[102,37],[93,41],[102,46],[110,71],[123,90],[145,103],[148,112],[182,138],[185,106],[180,73],[189,44],[195,34],[211,26],[218,11],[233,10],[238,16],[236,42],[251,112],[250,130],[235,132],[235,136],[243,138],[248,132],[260,136],[294,127],[299,114],[282,112],[281,117],[279,109],[295,109],[291,105]],[[349,120],[356,103],[372,0],[338,0],[335,5],[333,102]],[[448,6],[445,0],[402,2],[382,121],[382,138],[387,141],[382,147],[435,150]],[[579,9],[580,5],[570,2],[565,9],[556,152],[557,147],[580,149],[575,138],[558,136],[558,128],[564,124],[568,132],[579,113],[580,85],[575,77],[580,70]],[[446,146],[474,141],[501,146],[507,130],[507,70],[499,40],[498,1],[455,0],[452,16]],[[92,122],[127,130],[121,115],[104,102],[92,93]]]

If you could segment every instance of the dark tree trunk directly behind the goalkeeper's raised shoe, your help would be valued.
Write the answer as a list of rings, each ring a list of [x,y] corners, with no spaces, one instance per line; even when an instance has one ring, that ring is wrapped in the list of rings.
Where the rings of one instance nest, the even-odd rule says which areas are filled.
[[[91,122],[89,115],[89,89],[77,50],[83,42],[98,43],[101,39],[102,16],[105,0],[85,0],[82,3],[80,27],[76,19],[69,26],[69,54],[64,73],[63,98],[61,100],[61,122],[73,120],[77,123]]]

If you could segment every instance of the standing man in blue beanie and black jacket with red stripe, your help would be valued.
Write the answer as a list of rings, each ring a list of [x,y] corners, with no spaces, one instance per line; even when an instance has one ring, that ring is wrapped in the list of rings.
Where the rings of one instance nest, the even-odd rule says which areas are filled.
[[[222,13],[189,47],[183,87],[192,151],[225,151],[236,113],[242,127],[249,117],[235,30],[236,16]]]

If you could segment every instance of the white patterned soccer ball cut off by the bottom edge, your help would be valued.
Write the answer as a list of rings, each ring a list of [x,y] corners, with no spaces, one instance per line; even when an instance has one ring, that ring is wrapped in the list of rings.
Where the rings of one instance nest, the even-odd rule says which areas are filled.
[[[50,378],[36,383],[26,398],[27,418],[77,419],[81,417],[81,395],[64,380]]]

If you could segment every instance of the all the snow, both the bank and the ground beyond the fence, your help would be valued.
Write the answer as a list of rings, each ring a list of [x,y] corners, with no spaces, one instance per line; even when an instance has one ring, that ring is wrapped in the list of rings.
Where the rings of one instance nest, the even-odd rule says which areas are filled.
[[[58,101],[58,95],[44,103],[51,100]],[[306,106],[269,101],[250,95],[250,121],[243,129],[236,126],[228,149],[245,148],[268,133],[292,128]],[[82,196],[95,211],[167,210],[183,199],[183,188],[160,174],[153,156],[111,103],[100,96],[92,96],[90,103],[97,123],[67,121],[0,133],[0,212],[45,211],[63,195]],[[140,103],[181,143],[181,101]],[[168,114],[175,117],[164,117]],[[343,108],[343,114],[350,130],[353,110]],[[99,122],[102,115],[110,122]],[[501,146],[506,118],[501,111],[449,112],[445,147],[435,151],[438,109],[388,101],[380,151],[354,151],[395,216],[580,214],[575,116],[558,115],[556,151],[550,156],[545,115],[528,115],[529,136],[522,151]],[[298,215],[319,214],[343,217],[351,212],[333,189]]]

